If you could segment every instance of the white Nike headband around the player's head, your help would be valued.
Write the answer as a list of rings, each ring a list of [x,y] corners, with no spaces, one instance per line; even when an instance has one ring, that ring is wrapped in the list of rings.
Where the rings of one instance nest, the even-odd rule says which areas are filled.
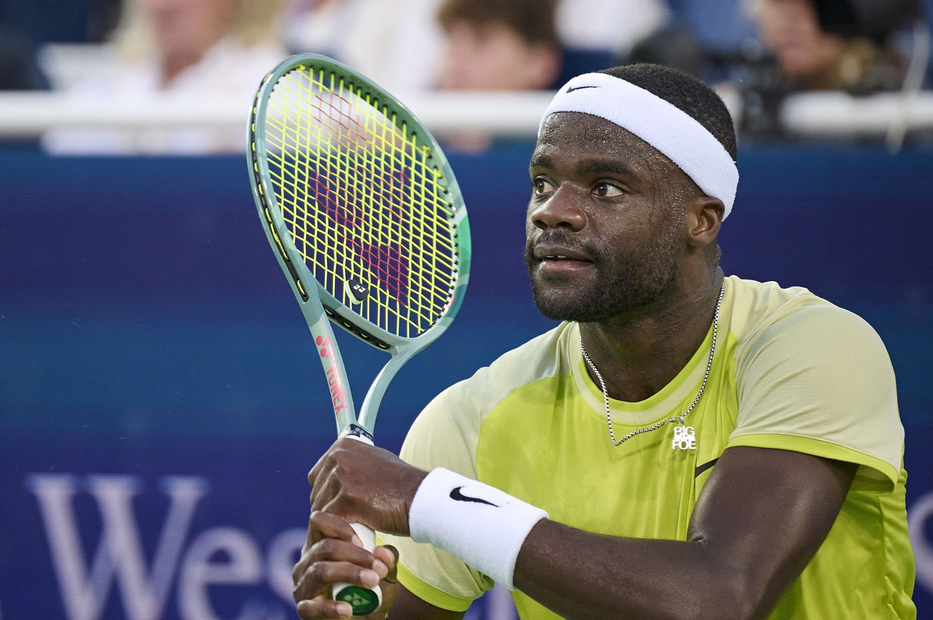
[[[607,74],[583,74],[554,95],[544,119],[555,112],[582,112],[619,125],[658,149],[707,196],[722,200],[726,219],[735,202],[739,169],[726,147],[689,114],[648,90]]]

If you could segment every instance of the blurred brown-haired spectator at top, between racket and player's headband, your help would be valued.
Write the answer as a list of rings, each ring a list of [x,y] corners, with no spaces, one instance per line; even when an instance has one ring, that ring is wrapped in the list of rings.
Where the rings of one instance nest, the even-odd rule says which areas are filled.
[[[561,50],[552,0],[444,0],[442,90],[556,88]]]

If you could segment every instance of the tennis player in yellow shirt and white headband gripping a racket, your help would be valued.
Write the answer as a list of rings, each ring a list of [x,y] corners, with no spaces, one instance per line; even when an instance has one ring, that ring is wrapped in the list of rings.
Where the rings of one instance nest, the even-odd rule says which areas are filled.
[[[342,617],[327,587],[380,578],[370,618],[459,618],[494,580],[535,620],[916,616],[884,345],[805,289],[724,277],[734,158],[725,106],[685,74],[558,92],[525,259],[564,323],[441,393],[403,461],[342,439],[317,462],[300,617]]]

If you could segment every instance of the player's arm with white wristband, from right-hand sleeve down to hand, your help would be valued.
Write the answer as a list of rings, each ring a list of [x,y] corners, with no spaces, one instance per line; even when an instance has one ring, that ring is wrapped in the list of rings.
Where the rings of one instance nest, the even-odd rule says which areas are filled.
[[[510,582],[574,620],[761,618],[823,544],[857,467],[795,451],[728,448],[693,506],[687,542],[602,536],[537,517],[527,521],[530,530],[516,527],[511,532],[516,544],[498,555],[503,530],[494,517],[506,516],[504,506],[522,515],[538,509],[465,478],[435,489],[431,497],[463,503],[461,511],[472,509],[474,516],[484,514],[478,510],[493,511],[484,517],[491,535],[483,539],[482,531],[461,528],[442,515],[440,525],[450,527],[429,531],[425,542],[453,553],[452,548],[464,547],[464,537],[485,540],[488,553],[454,555],[487,575],[499,572],[500,583]],[[327,477],[314,484],[321,472]],[[419,483],[430,478],[385,450],[347,439],[335,444],[309,475],[313,508],[402,535],[411,533]],[[466,502],[455,497],[465,487],[471,489]],[[374,497],[391,501],[374,502]],[[432,518],[430,511],[424,517]],[[522,517],[515,523],[526,521]]]

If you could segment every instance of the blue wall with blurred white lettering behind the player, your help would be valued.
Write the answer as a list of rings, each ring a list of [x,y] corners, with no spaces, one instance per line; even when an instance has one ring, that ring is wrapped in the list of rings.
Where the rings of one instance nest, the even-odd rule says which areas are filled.
[[[453,158],[470,289],[390,387],[387,448],[439,390],[550,326],[521,259],[529,152]],[[746,150],[740,169],[727,273],[807,286],[887,344],[933,615],[933,153]],[[292,617],[304,476],[335,428],[244,159],[10,149],[0,178],[0,617]],[[341,342],[361,391],[383,358]],[[118,539],[117,569],[96,554]]]

